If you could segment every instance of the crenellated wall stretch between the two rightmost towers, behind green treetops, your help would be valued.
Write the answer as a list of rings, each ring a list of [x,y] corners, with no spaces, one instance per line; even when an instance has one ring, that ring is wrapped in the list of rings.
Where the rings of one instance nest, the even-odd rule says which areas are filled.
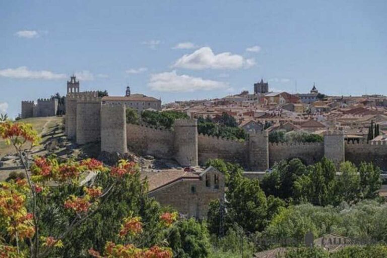
[[[269,144],[269,163],[299,158],[305,164],[314,164],[324,157],[324,143]]]

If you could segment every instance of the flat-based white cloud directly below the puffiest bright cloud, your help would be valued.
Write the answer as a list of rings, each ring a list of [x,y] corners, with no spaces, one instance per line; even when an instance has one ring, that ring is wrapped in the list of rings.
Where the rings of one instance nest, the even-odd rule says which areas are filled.
[[[226,83],[204,80],[200,77],[177,75],[176,71],[151,75],[148,86],[155,91],[165,92],[192,92],[225,89]]]

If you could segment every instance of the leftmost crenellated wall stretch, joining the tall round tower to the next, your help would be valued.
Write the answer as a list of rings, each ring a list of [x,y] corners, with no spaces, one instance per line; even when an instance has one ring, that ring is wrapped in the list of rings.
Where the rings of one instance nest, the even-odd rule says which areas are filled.
[[[126,124],[127,148],[159,158],[173,158],[173,133],[150,126]]]

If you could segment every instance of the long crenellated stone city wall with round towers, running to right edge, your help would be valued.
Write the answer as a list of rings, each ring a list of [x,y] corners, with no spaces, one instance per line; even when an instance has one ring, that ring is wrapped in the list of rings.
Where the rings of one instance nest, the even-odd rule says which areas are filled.
[[[342,131],[328,132],[323,143],[269,143],[268,132],[250,133],[243,141],[198,135],[196,119],[176,120],[171,130],[126,124],[124,104],[102,104],[96,92],[68,94],[66,132],[78,144],[101,141],[101,150],[127,149],[159,158],[175,159],[182,166],[203,165],[208,159],[237,162],[250,171],[264,171],[276,162],[300,158],[314,164],[327,157],[338,165],[373,162],[387,170],[384,142],[345,143]],[[28,103],[27,103],[28,104]]]

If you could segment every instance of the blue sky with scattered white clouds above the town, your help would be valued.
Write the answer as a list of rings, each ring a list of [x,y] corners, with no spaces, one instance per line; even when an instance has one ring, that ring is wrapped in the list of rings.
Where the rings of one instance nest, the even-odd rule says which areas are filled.
[[[387,2],[2,1],[0,112],[81,90],[174,100],[313,82],[331,95],[387,94]]]

